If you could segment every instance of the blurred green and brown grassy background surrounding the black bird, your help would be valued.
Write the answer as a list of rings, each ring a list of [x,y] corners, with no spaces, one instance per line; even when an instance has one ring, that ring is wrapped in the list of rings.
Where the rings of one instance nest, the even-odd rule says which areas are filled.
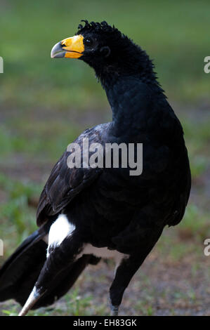
[[[0,0],[0,8],[0,56],[4,58],[4,74],[0,74],[0,239],[4,239],[4,257],[0,257],[0,265],[36,228],[41,188],[65,147],[85,128],[111,119],[105,92],[93,70],[80,60],[50,58],[52,46],[74,35],[81,19],[107,20],[154,59],[159,81],[183,124],[192,169],[185,218],[178,227],[165,230],[145,273],[137,275],[144,281],[144,293],[138,293],[134,281],[123,312],[208,315],[209,296],[203,286],[209,284],[210,257],[204,256],[203,242],[210,237],[210,74],[204,73],[204,57],[210,55],[210,2]],[[157,269],[152,268],[154,259]],[[178,265],[188,270],[178,272],[183,286],[180,277],[176,281]],[[99,296],[106,298],[110,282],[103,275],[110,270],[101,267],[97,269]],[[165,279],[166,287],[160,290],[155,282],[158,276],[148,282],[147,268],[156,275],[171,270],[176,286]],[[89,270],[67,296],[67,308],[57,306],[59,315],[107,313],[105,300],[97,309],[100,299],[91,296],[94,274]],[[14,303],[3,308],[1,312],[0,305],[3,315],[17,310]]]

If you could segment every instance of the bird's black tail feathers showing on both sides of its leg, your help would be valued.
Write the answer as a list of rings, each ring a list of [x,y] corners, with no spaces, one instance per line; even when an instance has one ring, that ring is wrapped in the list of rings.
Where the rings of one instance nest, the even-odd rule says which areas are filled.
[[[47,244],[43,238],[48,228],[41,227],[16,249],[0,269],[0,301],[15,299],[24,305],[31,293],[39,273],[46,261]],[[98,258],[84,255],[58,273],[51,287],[34,304],[33,309],[51,305],[72,287],[88,263],[94,264]]]

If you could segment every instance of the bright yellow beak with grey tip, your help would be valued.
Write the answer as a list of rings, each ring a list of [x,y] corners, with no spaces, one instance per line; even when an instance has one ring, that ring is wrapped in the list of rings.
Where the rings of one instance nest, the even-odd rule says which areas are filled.
[[[80,58],[84,52],[83,39],[79,34],[59,41],[52,48],[51,58]]]

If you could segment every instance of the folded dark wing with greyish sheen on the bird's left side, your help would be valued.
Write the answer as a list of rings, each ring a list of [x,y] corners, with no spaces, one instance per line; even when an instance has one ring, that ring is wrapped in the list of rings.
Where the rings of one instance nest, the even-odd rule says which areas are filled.
[[[103,145],[102,133],[107,130],[109,124],[101,124],[87,129],[74,140],[74,143],[78,143],[81,147],[81,156],[83,139],[88,138],[89,145],[91,143],[101,143]],[[91,185],[102,171],[100,168],[93,169],[91,167],[74,167],[70,169],[67,166],[67,158],[70,154],[71,152],[64,152],[63,156],[53,167],[51,175],[44,186],[44,190],[41,192],[37,209],[37,225],[39,226],[45,223],[49,216],[57,214],[67,206],[81,190]]]

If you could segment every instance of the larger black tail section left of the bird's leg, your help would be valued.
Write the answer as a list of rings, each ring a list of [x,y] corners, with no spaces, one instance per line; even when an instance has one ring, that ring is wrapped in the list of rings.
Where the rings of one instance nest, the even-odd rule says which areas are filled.
[[[27,237],[0,269],[0,301],[25,303],[46,260],[46,227]]]

